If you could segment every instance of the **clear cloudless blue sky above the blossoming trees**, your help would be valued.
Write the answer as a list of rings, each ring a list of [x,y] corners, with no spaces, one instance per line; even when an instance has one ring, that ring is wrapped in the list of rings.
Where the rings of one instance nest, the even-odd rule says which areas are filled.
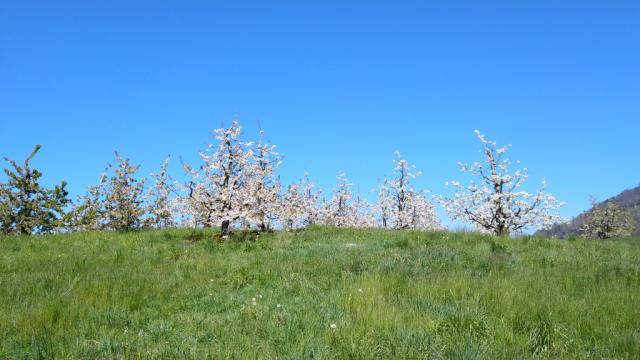
[[[41,143],[45,183],[75,197],[115,149],[195,162],[234,116],[285,182],[345,170],[363,193],[396,149],[448,193],[477,128],[574,216],[640,182],[640,3],[0,2],[0,155]]]

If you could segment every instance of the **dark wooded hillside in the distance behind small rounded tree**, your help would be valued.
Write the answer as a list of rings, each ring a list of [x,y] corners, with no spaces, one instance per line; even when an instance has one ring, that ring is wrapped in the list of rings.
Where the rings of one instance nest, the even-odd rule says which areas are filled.
[[[603,201],[601,204],[609,202],[631,211],[633,217],[636,219],[635,235],[640,235],[640,226],[638,226],[640,225],[640,185],[633,189],[627,189],[620,194]],[[592,210],[593,208],[583,212],[566,224],[555,225],[547,231],[539,231],[537,235],[557,236],[561,238],[568,237],[570,235],[578,235],[580,234],[580,228],[582,228],[582,225],[587,219],[587,215]]]

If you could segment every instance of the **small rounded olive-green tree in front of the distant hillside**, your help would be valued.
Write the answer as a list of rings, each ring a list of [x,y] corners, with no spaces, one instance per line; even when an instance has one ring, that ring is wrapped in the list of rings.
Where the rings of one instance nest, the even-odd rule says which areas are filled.
[[[636,224],[629,211],[612,202],[601,205],[592,202],[593,210],[582,227],[585,237],[609,239],[630,236],[633,233]]]

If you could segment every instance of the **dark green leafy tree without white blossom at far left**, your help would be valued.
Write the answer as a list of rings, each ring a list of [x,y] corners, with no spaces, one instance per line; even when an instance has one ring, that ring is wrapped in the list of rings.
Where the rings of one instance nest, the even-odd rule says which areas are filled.
[[[63,225],[64,208],[69,204],[66,182],[47,189],[38,180],[42,173],[32,169],[30,162],[40,150],[33,152],[19,165],[5,158],[13,169],[4,169],[7,183],[0,184],[0,232],[3,234],[45,233]]]

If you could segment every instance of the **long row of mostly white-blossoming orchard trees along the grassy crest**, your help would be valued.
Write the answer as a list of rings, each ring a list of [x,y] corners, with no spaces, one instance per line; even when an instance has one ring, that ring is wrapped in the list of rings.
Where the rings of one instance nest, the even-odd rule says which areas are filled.
[[[116,153],[116,164],[109,165],[98,184],[73,204],[65,183],[53,189],[38,184],[41,173],[29,166],[38,146],[23,166],[7,159],[14,170],[5,169],[9,181],[0,185],[0,230],[33,233],[188,226],[220,227],[226,237],[240,227],[268,231],[311,224],[440,229],[434,203],[451,218],[496,235],[546,229],[564,220],[557,214],[563,204],[545,192],[544,181],[535,193],[522,190],[528,175],[526,169],[510,171],[511,162],[505,157],[509,146],[498,147],[480,132],[476,135],[483,159],[460,167],[478,182],[462,185],[452,181],[453,197],[430,196],[413,185],[420,171],[396,152],[393,173],[381,181],[374,203],[354,195],[344,173],[338,174],[338,184],[328,199],[308,174],[284,187],[277,175],[282,157],[276,146],[265,140],[263,131],[256,142],[244,140],[236,121],[213,132],[214,141],[200,152],[198,165],[181,164],[186,182],[169,176],[169,158],[145,180],[137,177],[139,166]]]

